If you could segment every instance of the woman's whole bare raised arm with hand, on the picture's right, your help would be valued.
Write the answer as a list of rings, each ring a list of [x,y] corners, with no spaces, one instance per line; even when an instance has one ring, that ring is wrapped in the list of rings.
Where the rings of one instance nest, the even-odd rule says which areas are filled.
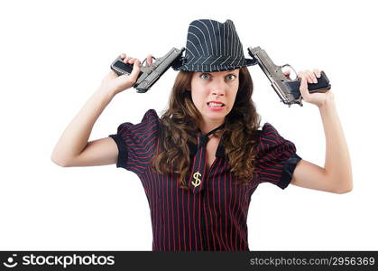
[[[305,101],[319,108],[326,135],[326,162],[324,168],[301,160],[294,170],[291,184],[300,187],[335,193],[350,192],[353,189],[352,166],[346,138],[337,116],[334,95],[327,93],[309,94],[308,82],[317,82],[319,70],[299,72],[302,79],[300,92]]]

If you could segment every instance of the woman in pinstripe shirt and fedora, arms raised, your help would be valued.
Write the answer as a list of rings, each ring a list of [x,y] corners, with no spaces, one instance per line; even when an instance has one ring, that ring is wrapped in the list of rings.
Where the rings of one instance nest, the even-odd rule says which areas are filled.
[[[244,58],[230,20],[189,24],[185,58],[173,67],[180,72],[161,117],[150,109],[141,123],[125,122],[115,135],[88,142],[97,117],[116,94],[133,86],[140,71],[139,60],[122,57],[134,64],[132,74],[106,75],[51,159],[61,166],[116,164],[136,173],[151,208],[152,250],[249,250],[247,213],[261,182],[351,191],[351,164],[332,91],[309,94],[308,83],[317,82],[320,71],[301,71],[299,77],[302,97],[319,108],[323,120],[324,168],[301,159],[271,124],[259,129],[246,68],[253,61]]]

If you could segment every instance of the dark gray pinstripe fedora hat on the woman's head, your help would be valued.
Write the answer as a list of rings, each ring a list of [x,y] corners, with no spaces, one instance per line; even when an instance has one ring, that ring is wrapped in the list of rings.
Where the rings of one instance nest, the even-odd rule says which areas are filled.
[[[245,59],[243,45],[231,20],[219,23],[201,19],[189,24],[185,55],[172,65],[173,70],[213,72],[236,70],[254,65]]]

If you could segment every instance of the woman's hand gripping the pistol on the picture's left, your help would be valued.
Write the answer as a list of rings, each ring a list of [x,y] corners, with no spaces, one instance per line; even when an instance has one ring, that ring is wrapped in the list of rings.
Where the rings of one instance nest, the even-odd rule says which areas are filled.
[[[111,91],[114,95],[124,91],[125,89],[130,89],[134,86],[136,79],[138,79],[138,74],[141,71],[141,61],[135,58],[127,57],[125,53],[121,54],[121,59],[124,63],[133,65],[133,71],[130,75],[120,75],[118,76],[114,70],[110,70],[106,77],[101,82],[101,88]],[[147,56],[147,65],[152,64],[152,55]]]

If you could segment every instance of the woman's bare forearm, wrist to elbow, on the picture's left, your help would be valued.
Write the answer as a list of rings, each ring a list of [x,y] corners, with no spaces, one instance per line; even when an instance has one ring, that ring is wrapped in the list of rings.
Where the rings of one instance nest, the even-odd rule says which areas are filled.
[[[64,164],[83,151],[97,118],[113,97],[113,92],[103,88],[97,89],[60,136],[51,154],[52,161]]]

